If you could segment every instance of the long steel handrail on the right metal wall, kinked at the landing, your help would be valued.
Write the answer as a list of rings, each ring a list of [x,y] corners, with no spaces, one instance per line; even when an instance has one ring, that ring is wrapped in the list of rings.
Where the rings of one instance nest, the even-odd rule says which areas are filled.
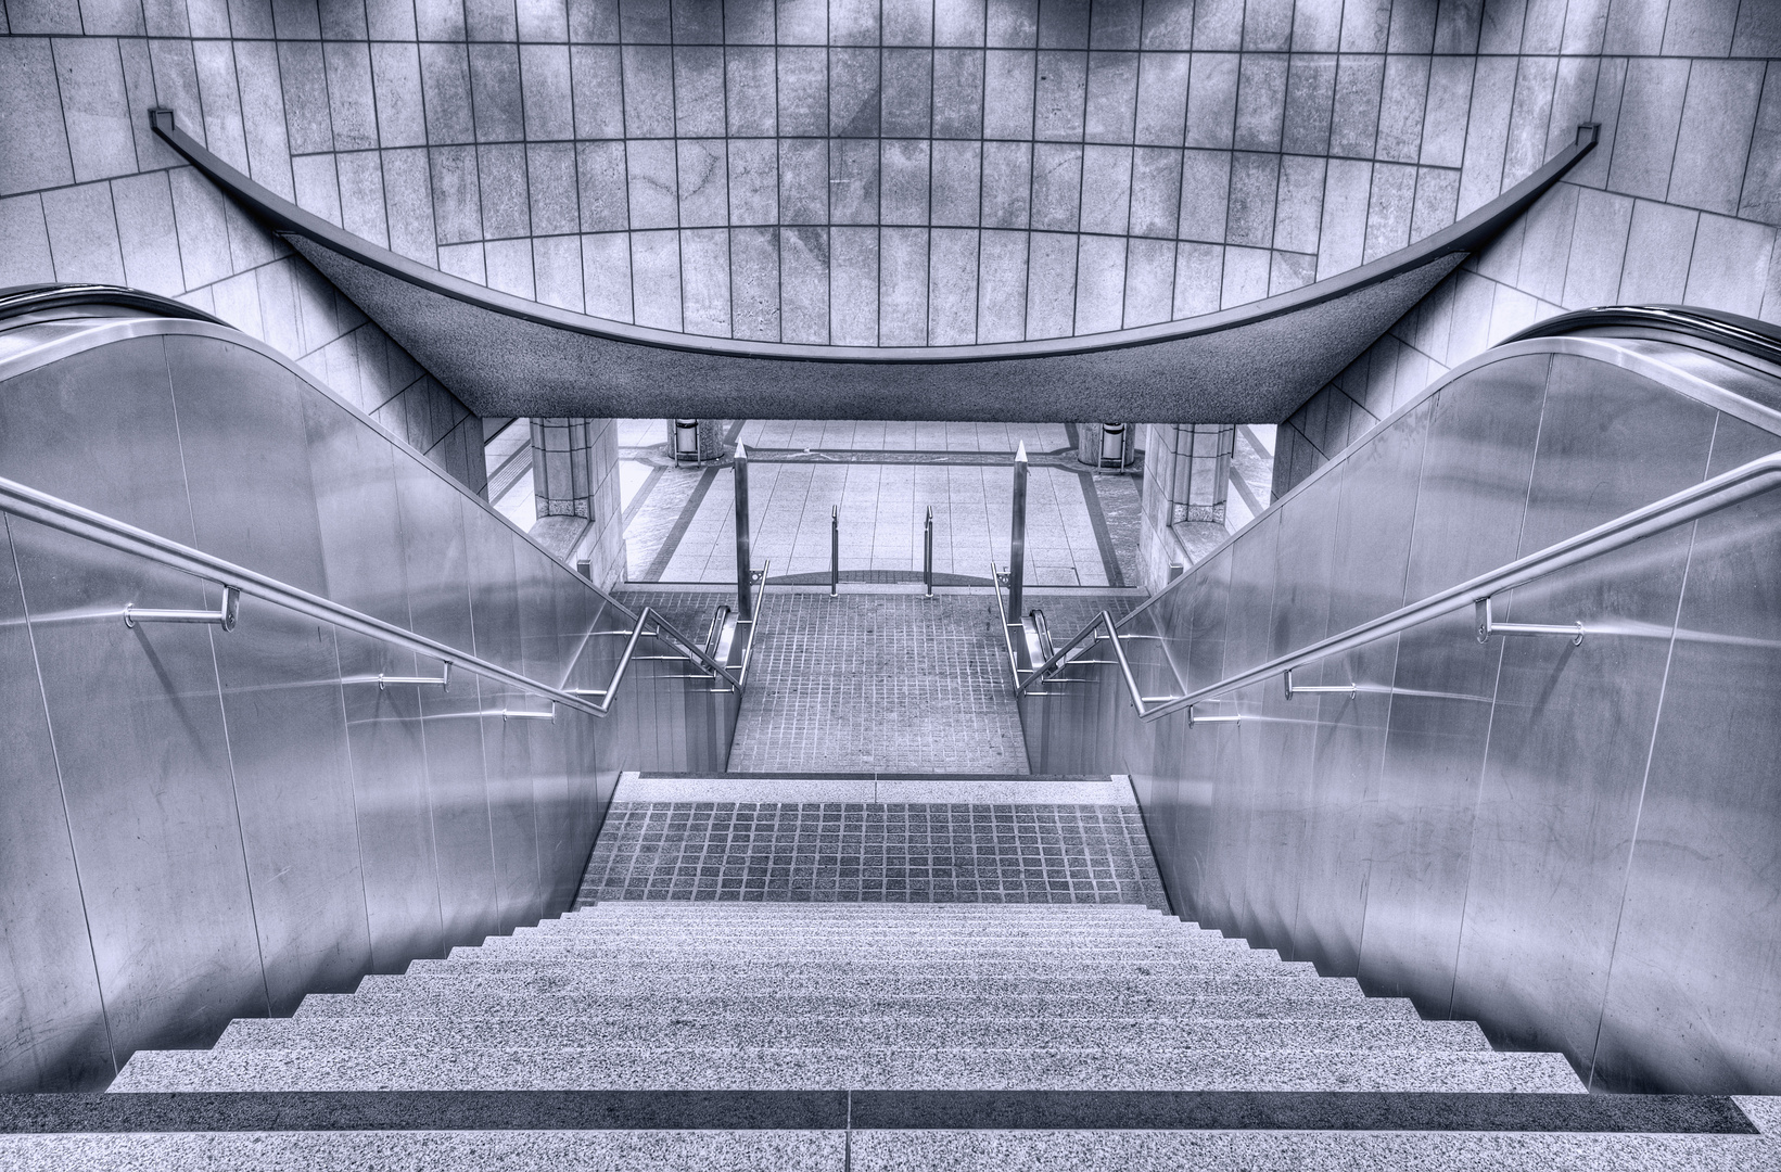
[[[1040,682],[1047,671],[1053,671],[1058,661],[1083,638],[1086,638],[1095,627],[1106,623],[1108,631],[1113,634],[1113,648],[1118,654],[1120,670],[1126,677],[1126,689],[1131,693],[1131,702],[1138,709],[1138,716],[1145,721],[1158,720],[1170,712],[1179,712],[1183,709],[1191,709],[1195,704],[1209,700],[1213,696],[1224,695],[1227,691],[1236,691],[1240,688],[1248,688],[1263,680],[1273,679],[1277,675],[1284,677],[1307,663],[1325,659],[1329,655],[1338,655],[1341,652],[1373,643],[1375,639],[1384,639],[1430,618],[1439,618],[1453,611],[1462,611],[1466,607],[1476,607],[1480,602],[1491,598],[1492,595],[1503,593],[1505,590],[1516,590],[1517,586],[1526,586],[1537,579],[1565,570],[1582,561],[1610,554],[1617,549],[1624,549],[1633,541],[1655,536],[1667,529],[1685,525],[1692,520],[1699,520],[1720,509],[1731,508],[1751,497],[1761,495],[1772,488],[1781,486],[1781,452],[1761,456],[1745,465],[1738,465],[1729,472],[1722,472],[1715,477],[1701,481],[1683,488],[1681,492],[1671,493],[1662,501],[1655,501],[1644,508],[1633,509],[1615,517],[1610,522],[1596,525],[1594,529],[1585,529],[1576,536],[1565,538],[1548,545],[1542,550],[1528,554],[1526,558],[1517,558],[1496,570],[1480,574],[1478,577],[1468,579],[1459,586],[1450,586],[1448,590],[1437,591],[1412,602],[1405,607],[1398,607],[1389,614],[1380,614],[1378,618],[1368,620],[1357,627],[1350,627],[1341,634],[1334,634],[1318,643],[1311,643],[1286,655],[1277,655],[1266,663],[1261,663],[1247,671],[1238,671],[1236,675],[1227,675],[1216,684],[1208,684],[1206,688],[1193,689],[1183,696],[1143,696],[1138,684],[1131,673],[1131,666],[1126,663],[1126,650],[1120,645],[1120,638],[1113,627],[1113,620],[1108,618],[1106,611],[1095,616],[1074,639],[1065,643],[1051,659],[1038,666],[1017,689],[1015,693],[1028,693],[1033,684]],[[997,591],[997,600],[1001,591]],[[1541,631],[1539,634],[1546,634]],[[1551,634],[1580,636],[1582,629],[1578,625],[1571,627],[1553,627]],[[1348,691],[1350,686],[1339,688],[1339,691]],[[1297,691],[1311,691],[1309,688],[1298,688]],[[1154,707],[1152,707],[1154,705]]]

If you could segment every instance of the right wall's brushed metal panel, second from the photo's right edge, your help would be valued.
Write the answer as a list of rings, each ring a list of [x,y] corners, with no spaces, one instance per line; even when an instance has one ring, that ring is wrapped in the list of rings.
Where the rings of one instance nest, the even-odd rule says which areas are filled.
[[[1624,370],[1555,356],[1519,552],[1697,483],[1713,419]],[[1487,1019],[1509,1046],[1562,1049],[1583,1069],[1687,556],[1688,533],[1671,531],[1500,600],[1509,622],[1610,629],[1582,647],[1505,641],[1453,1013]]]

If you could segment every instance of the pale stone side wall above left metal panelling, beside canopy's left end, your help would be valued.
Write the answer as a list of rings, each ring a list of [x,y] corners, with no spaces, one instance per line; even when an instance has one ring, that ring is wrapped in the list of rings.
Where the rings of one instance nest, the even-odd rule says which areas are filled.
[[[287,139],[281,43],[232,39],[223,5],[12,0],[4,16],[0,287],[98,281],[178,297],[484,492],[470,410],[148,128],[151,105],[180,109],[232,164],[294,194],[301,135]],[[253,5],[233,20],[244,37],[272,32]]]

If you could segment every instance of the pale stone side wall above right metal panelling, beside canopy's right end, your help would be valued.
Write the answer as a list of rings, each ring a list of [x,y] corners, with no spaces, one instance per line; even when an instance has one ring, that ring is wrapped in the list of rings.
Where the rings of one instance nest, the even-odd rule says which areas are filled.
[[[1601,123],[1599,146],[1293,413],[1275,497],[1448,369],[1565,310],[1683,303],[1781,322],[1781,5],[1535,7],[1564,12],[1528,5],[1523,52],[1558,55],[1521,59],[1510,109],[1551,103],[1557,125],[1564,103],[1565,121]]]

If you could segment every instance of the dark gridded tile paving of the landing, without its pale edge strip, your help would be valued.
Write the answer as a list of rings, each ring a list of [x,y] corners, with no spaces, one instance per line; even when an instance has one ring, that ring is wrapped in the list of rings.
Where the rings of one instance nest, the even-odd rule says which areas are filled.
[[[1167,908],[1122,805],[622,802],[575,907],[602,899]]]

